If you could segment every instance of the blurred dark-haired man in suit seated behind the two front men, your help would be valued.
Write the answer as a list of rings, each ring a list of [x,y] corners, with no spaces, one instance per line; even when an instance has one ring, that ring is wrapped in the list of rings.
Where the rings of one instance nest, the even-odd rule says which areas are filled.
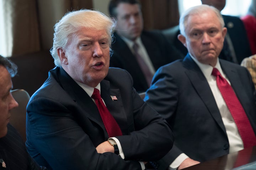
[[[159,31],[143,30],[143,16],[138,0],[111,0],[109,12],[117,26],[112,44],[110,67],[126,69],[134,88],[146,91],[159,67],[181,58]]]

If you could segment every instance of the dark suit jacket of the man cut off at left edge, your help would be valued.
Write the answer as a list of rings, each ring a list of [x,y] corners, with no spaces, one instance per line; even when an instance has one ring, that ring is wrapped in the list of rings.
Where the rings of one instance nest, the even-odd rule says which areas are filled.
[[[23,142],[18,131],[11,125],[7,125],[7,135],[0,138],[0,159],[4,160],[6,168],[2,170],[43,170],[31,158],[26,150],[25,143]]]

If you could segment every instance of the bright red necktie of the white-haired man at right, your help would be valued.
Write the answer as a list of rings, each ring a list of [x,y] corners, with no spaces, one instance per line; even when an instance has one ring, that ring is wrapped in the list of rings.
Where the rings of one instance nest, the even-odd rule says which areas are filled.
[[[212,75],[216,76],[217,86],[225,100],[228,109],[235,120],[239,134],[244,143],[244,148],[255,146],[256,137],[254,130],[251,127],[250,121],[245,114],[244,108],[236,97],[236,94],[228,81],[222,77],[217,68],[213,68]]]

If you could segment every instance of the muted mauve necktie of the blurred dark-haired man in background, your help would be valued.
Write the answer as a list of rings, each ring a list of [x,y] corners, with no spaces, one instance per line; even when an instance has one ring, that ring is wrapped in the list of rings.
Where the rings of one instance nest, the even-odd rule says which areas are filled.
[[[136,59],[139,63],[140,68],[142,69],[142,72],[143,72],[143,74],[146,78],[148,86],[150,86],[151,80],[153,78],[153,74],[150,72],[149,67],[147,66],[147,64],[143,60],[142,56],[139,55],[138,49],[139,49],[139,45],[136,42],[134,42],[133,50],[134,50],[134,53],[135,53],[135,57],[136,57]]]

